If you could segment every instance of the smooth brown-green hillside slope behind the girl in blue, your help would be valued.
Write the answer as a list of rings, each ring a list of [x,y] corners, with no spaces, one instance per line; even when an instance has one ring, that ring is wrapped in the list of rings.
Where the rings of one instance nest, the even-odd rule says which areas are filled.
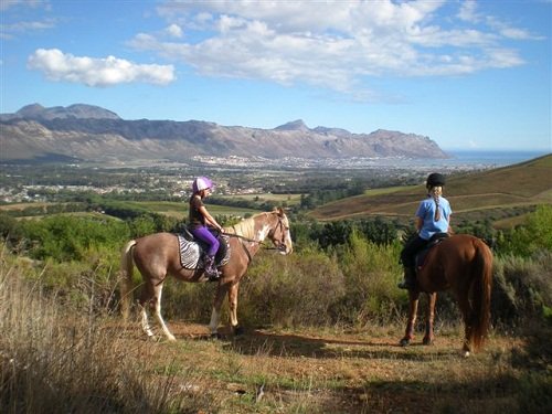
[[[322,205],[310,215],[317,220],[370,215],[410,219],[424,194],[424,184],[374,191]],[[514,166],[449,177],[445,195],[455,215],[487,209],[552,203],[552,155]]]

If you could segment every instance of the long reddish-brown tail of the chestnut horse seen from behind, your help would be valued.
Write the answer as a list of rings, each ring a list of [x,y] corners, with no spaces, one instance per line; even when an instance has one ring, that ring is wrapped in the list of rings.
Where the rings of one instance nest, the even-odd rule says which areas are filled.
[[[473,339],[474,348],[482,347],[490,323],[490,294],[492,288],[492,253],[480,240],[476,242],[473,286]]]

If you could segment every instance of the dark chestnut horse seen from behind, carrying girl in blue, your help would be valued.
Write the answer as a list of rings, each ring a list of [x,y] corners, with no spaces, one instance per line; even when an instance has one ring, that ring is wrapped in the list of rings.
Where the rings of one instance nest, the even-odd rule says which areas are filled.
[[[478,350],[489,327],[491,284],[492,253],[481,240],[468,234],[443,240],[427,253],[422,269],[417,272],[416,286],[408,290],[408,321],[401,346],[410,344],[414,337],[421,293],[428,296],[423,343],[433,342],[437,291],[449,290],[458,301],[464,318],[464,355]]]

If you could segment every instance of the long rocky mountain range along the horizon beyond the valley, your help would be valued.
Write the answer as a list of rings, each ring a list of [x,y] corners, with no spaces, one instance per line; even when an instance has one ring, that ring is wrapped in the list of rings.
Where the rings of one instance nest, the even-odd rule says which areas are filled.
[[[378,129],[352,134],[309,128],[302,120],[274,129],[202,120],[125,120],[102,107],[28,105],[0,115],[1,160],[184,161],[194,156],[307,159],[350,157],[447,158],[428,137]]]

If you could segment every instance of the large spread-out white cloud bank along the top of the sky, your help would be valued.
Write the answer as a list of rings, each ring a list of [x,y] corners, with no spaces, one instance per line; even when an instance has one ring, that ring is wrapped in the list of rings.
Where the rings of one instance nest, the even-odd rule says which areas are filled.
[[[460,3],[456,15],[445,14],[454,9],[445,3],[173,0],[158,13],[193,32],[194,41],[140,33],[130,44],[203,75],[300,82],[357,95],[367,94],[359,89],[367,76],[463,75],[523,64],[506,40],[527,40],[526,31],[486,17],[473,0]]]

